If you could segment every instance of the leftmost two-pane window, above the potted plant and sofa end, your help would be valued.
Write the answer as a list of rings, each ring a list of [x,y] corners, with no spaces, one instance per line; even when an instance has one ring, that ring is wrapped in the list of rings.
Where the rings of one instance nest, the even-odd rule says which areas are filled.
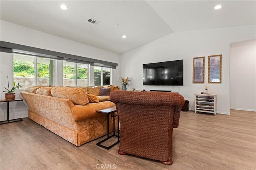
[[[33,85],[54,85],[54,59],[13,54],[13,77],[14,82],[23,85],[21,89]]]

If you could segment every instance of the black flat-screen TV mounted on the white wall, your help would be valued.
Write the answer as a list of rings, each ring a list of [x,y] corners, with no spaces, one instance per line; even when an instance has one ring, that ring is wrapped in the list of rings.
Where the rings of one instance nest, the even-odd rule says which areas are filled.
[[[183,60],[143,64],[143,85],[183,85]]]

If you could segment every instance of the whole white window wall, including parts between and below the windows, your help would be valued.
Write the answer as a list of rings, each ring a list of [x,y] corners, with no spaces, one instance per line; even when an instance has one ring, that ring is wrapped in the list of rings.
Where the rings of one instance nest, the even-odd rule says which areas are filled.
[[[0,33],[1,41],[17,43],[21,45],[28,45],[31,47],[37,47],[42,49],[48,49],[61,53],[68,53],[72,55],[78,55],[82,57],[88,57],[93,59],[99,59],[103,61],[109,61],[118,63],[114,76],[112,77],[112,84],[118,85],[118,78],[120,77],[120,55],[90,45],[74,42],[44,32],[26,28],[17,24],[12,24],[4,20],[0,20]],[[4,99],[4,86],[7,85],[7,75],[9,82],[13,81],[12,72],[12,54],[11,53],[0,53],[0,90],[1,99]],[[60,67],[58,67],[58,65]],[[62,62],[58,62],[58,71],[62,70]],[[62,71],[61,71],[62,72]],[[117,78],[118,77],[118,78]],[[57,85],[62,85],[62,77],[58,77]],[[20,91],[16,91],[16,98],[22,98]],[[10,102],[10,119],[28,117],[28,109],[25,102]],[[1,103],[1,121],[6,120],[6,103]]]

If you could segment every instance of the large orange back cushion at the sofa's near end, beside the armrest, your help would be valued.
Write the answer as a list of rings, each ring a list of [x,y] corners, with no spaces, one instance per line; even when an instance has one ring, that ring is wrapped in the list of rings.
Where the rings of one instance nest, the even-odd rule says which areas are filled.
[[[51,93],[53,97],[70,99],[74,105],[86,105],[89,103],[86,92],[82,88],[56,86],[52,87]]]

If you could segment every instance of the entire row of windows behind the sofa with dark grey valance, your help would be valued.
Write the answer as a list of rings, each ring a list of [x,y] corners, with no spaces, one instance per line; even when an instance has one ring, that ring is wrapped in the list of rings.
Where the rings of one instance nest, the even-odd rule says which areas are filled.
[[[116,81],[116,71],[112,69],[116,69],[117,63],[4,41],[1,41],[1,52],[12,53],[14,56],[14,81],[24,85],[24,88],[33,85],[88,86],[89,82],[90,85],[110,85]],[[69,61],[72,65],[66,65],[66,61],[63,63],[63,60]],[[95,63],[96,60],[98,63]],[[99,66],[94,69],[95,72],[93,65]]]

